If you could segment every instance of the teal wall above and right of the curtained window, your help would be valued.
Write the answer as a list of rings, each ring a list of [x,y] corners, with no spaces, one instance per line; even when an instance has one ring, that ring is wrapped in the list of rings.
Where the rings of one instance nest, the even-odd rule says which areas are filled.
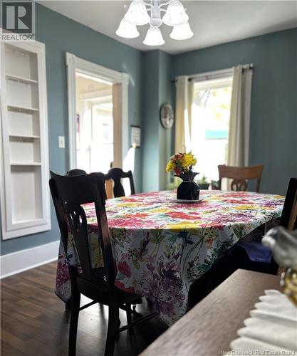
[[[261,192],[285,194],[297,176],[297,28],[174,56],[172,78],[254,63],[250,164]]]

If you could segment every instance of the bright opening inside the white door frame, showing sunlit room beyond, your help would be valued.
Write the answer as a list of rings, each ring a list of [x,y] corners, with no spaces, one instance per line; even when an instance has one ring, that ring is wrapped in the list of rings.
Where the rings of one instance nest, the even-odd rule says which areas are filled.
[[[113,83],[76,71],[76,162],[86,172],[113,167]]]

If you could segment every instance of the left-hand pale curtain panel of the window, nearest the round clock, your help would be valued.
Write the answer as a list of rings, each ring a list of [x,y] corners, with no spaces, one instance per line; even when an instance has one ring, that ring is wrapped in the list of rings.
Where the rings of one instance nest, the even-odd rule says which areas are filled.
[[[187,75],[177,78],[176,120],[175,120],[175,151],[191,150],[192,101],[194,83]]]

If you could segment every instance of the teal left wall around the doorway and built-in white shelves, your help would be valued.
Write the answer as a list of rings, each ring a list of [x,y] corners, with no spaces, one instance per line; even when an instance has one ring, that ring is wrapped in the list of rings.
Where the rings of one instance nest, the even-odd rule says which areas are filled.
[[[129,125],[140,125],[142,52],[38,4],[36,4],[36,39],[46,44],[49,167],[54,172],[63,173],[68,170],[65,53],[71,52],[101,66],[128,73],[130,75]],[[66,149],[58,148],[58,136],[65,136]],[[137,192],[142,190],[142,148],[137,148],[135,153],[135,188]],[[52,204],[51,221],[51,231],[1,241],[1,254],[58,240],[60,234]]]

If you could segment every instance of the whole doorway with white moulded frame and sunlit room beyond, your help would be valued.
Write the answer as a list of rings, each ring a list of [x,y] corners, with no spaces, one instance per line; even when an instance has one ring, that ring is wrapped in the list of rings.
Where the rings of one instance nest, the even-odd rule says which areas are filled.
[[[106,173],[128,151],[129,76],[66,53],[69,167]]]

